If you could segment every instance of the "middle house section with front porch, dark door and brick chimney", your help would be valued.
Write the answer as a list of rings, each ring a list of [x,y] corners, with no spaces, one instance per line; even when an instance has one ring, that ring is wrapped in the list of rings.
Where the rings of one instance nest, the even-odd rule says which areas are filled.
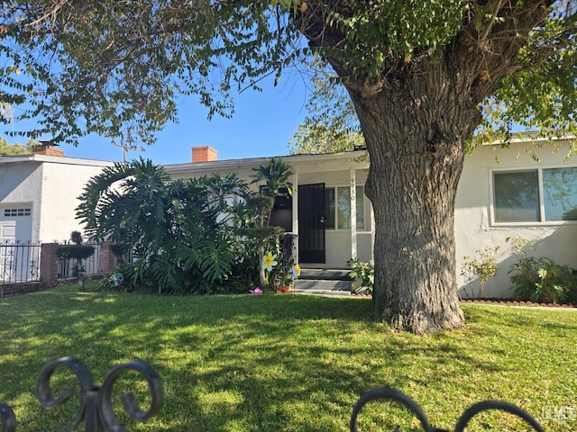
[[[250,183],[252,168],[268,163],[267,157],[219,161],[215,150],[206,160],[195,157],[195,150],[196,162],[165,166],[172,178],[236,173]],[[362,193],[369,167],[366,151],[281,158],[294,172],[294,193],[291,199],[277,200],[271,223],[298,234],[299,265],[344,268],[351,257],[370,260],[372,211]]]

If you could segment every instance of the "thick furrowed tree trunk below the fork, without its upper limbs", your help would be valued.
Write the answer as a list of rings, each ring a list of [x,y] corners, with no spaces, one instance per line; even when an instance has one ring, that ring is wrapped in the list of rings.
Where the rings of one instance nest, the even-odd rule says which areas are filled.
[[[442,62],[396,89],[350,89],[371,157],[377,318],[425,333],[462,325],[456,284],[454,202],[463,139],[481,116]]]

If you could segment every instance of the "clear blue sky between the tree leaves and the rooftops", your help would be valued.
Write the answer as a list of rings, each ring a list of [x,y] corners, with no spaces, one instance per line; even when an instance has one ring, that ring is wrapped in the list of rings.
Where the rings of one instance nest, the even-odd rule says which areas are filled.
[[[179,123],[169,123],[158,133],[158,142],[144,151],[129,151],[127,159],[150,158],[156,164],[190,162],[192,146],[211,146],[218,159],[270,157],[289,154],[289,139],[306,116],[307,87],[298,75],[284,76],[279,85],[272,80],[262,83],[262,92],[247,90],[234,97],[232,119],[219,116],[207,120],[207,109],[194,94],[179,104]],[[18,122],[4,130],[22,130]],[[8,142],[24,143],[27,139],[7,137]],[[44,137],[41,137],[44,139]],[[47,137],[46,139],[50,139]],[[87,136],[78,139],[78,147],[63,144],[67,157],[122,161],[122,148],[110,139]]]

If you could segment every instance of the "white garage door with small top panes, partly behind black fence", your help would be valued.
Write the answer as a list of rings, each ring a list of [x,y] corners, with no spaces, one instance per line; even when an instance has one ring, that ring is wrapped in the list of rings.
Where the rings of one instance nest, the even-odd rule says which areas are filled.
[[[30,206],[0,206],[0,282],[25,282],[31,275],[32,257],[24,247],[32,239]],[[24,253],[26,252],[26,253]]]

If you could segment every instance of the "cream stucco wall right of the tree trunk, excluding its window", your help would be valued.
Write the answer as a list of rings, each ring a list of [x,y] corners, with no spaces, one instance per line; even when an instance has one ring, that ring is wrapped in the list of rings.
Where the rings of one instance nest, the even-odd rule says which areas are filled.
[[[511,247],[506,238],[513,236],[534,240],[536,250],[532,255],[550,257],[559,264],[577,268],[577,247],[575,247],[577,245],[577,222],[548,222],[546,224],[526,222],[499,226],[492,221],[492,170],[536,168],[537,166],[577,166],[575,157],[567,163],[564,162],[568,153],[566,146],[558,152],[552,152],[552,147],[533,148],[538,161],[525,152],[526,148],[532,147],[530,144],[520,142],[511,143],[509,148],[483,146],[465,157],[463,175],[455,201],[457,283],[463,295],[464,287],[468,289],[465,278],[460,275],[463,257],[474,257],[477,250],[499,246],[498,275],[490,277],[485,285],[483,297],[510,297],[512,287],[508,279],[510,276],[508,270],[517,258],[512,256]],[[473,285],[477,287],[478,281],[475,281]]]

